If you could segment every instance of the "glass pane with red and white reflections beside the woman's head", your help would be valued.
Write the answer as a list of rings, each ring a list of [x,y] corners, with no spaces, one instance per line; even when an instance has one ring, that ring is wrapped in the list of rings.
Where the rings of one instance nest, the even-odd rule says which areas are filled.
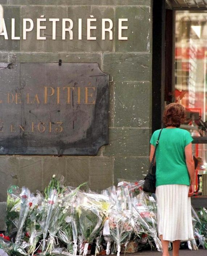
[[[194,137],[195,176],[207,173],[207,12],[175,12],[174,102],[186,108],[181,128]],[[197,143],[198,142],[198,143]],[[202,190],[202,177],[200,189]],[[196,181],[196,190],[198,190]]]

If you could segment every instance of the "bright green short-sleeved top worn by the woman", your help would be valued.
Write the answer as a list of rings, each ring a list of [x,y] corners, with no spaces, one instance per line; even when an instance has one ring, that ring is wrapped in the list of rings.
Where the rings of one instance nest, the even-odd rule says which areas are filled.
[[[153,133],[150,143],[156,146],[160,130]],[[180,128],[165,128],[156,151],[156,187],[168,184],[190,185],[185,160],[185,146],[192,142],[190,133]]]

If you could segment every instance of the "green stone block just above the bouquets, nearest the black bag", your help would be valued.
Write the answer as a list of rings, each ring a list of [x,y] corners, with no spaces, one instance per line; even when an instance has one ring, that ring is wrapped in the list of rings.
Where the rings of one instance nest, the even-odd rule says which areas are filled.
[[[117,185],[118,179],[126,181],[144,180],[148,167],[149,157],[115,157],[114,185]]]

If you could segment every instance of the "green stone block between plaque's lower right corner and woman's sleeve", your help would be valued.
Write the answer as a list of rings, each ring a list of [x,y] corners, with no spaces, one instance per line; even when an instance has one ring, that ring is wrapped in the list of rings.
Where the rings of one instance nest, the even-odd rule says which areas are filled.
[[[149,155],[149,129],[109,128],[109,144],[104,156],[145,157]]]

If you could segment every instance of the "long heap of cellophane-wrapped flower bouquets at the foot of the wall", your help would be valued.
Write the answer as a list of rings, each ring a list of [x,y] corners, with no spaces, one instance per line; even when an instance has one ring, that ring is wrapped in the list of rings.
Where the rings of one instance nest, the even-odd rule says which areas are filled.
[[[143,183],[119,180],[117,187],[96,193],[86,184],[65,186],[54,175],[44,194],[11,186],[0,248],[9,256],[161,251],[156,198],[143,192]],[[192,221],[195,240],[188,247],[206,249],[207,210],[192,208]]]

